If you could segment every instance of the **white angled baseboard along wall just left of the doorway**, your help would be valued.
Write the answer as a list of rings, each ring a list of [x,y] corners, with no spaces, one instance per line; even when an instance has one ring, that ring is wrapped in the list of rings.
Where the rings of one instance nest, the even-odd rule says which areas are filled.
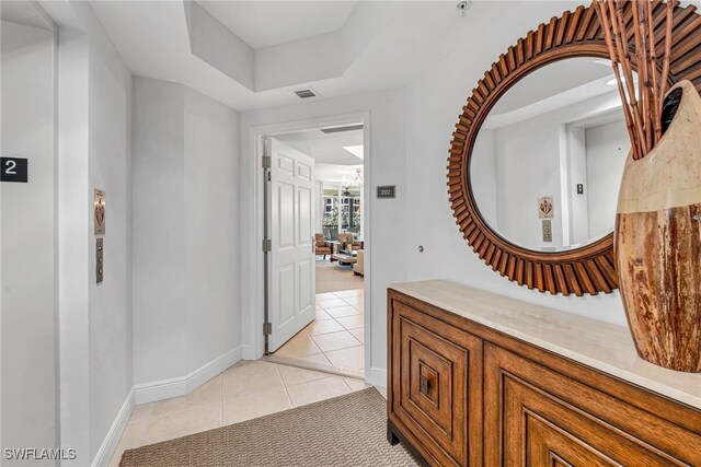
[[[136,404],[148,404],[184,396],[240,361],[241,357],[242,348],[239,346],[186,376],[137,384],[134,386],[136,389]]]

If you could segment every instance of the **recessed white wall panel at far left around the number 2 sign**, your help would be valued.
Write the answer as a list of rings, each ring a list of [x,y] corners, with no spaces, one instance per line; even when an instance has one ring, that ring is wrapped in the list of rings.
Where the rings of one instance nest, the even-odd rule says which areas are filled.
[[[0,151],[28,159],[27,184],[0,186],[1,444],[3,450],[53,447],[58,434],[55,38],[51,31],[5,21],[1,30]],[[13,465],[2,458],[2,465]]]

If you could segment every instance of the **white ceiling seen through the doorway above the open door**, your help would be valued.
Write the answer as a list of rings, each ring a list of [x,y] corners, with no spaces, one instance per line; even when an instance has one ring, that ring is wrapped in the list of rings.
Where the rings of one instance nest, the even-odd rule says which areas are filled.
[[[298,131],[278,135],[275,138],[310,155],[317,164],[363,165],[363,160],[343,149],[363,144],[363,130],[324,133],[321,130]]]

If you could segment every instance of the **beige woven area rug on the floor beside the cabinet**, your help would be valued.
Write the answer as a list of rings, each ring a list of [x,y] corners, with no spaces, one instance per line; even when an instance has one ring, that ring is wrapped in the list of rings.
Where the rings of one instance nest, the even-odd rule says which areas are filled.
[[[416,466],[387,442],[387,401],[374,387],[229,427],[129,450],[120,467]]]

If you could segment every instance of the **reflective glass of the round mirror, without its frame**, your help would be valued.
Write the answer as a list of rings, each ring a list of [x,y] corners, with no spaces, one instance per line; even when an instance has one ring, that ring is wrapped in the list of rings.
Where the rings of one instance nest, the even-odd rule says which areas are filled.
[[[508,90],[472,149],[484,221],[522,248],[558,252],[613,231],[630,140],[608,60],[549,63]]]

